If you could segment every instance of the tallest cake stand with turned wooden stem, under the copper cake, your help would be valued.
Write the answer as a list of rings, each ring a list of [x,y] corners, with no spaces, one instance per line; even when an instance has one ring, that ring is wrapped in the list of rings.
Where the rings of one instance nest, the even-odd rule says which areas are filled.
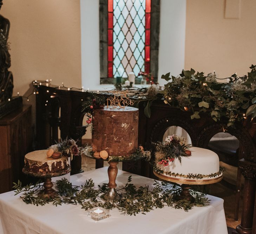
[[[110,160],[109,159],[102,159],[102,158],[95,158],[94,156],[90,155],[90,154],[84,154],[86,157],[91,158],[91,159],[99,159],[99,160],[103,160],[103,161],[108,161],[109,163],[109,168],[107,168],[107,174],[109,176],[109,183],[107,184],[107,187],[109,188],[109,190],[104,193],[103,195],[100,196],[101,199],[105,200],[105,201],[117,201],[120,200],[122,198],[122,195],[118,194],[116,191],[116,178],[117,178],[117,172],[118,172],[118,168],[117,168],[117,164],[118,162],[128,162],[128,161],[136,161],[138,159],[125,159],[124,157],[120,157],[120,160]],[[142,159],[142,158],[140,158]]]

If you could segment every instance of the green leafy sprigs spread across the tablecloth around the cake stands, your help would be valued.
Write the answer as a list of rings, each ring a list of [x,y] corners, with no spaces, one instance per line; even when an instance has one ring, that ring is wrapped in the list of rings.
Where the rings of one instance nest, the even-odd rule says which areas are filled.
[[[35,185],[29,184],[25,187],[22,187],[21,182],[18,181],[18,183],[14,183],[13,188],[16,189],[15,195],[22,193],[20,198],[26,204],[36,206],[44,206],[50,202],[55,206],[62,203],[79,204],[85,210],[100,206],[106,209],[117,208],[122,214],[128,215],[145,214],[154,208],[163,208],[164,206],[188,211],[194,206],[207,206],[209,204],[205,194],[195,192],[192,189],[190,190],[190,194],[193,196],[191,201],[179,200],[178,195],[181,192],[181,187],[178,185],[155,181],[154,187],[149,189],[149,186],[136,188],[130,182],[131,176],[129,176],[126,185],[118,190],[119,193],[122,193],[122,199],[117,202],[101,200],[100,195],[106,192],[107,184],[98,185],[96,189],[92,179],[86,180],[85,184],[81,186],[73,186],[67,179],[58,180],[59,196],[55,198],[38,196],[38,192],[43,188],[40,181]]]

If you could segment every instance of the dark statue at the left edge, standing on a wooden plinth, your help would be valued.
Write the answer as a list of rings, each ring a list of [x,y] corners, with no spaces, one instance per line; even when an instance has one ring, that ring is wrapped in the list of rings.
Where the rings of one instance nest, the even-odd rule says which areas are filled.
[[[0,9],[2,5],[2,0],[0,0]],[[8,71],[11,66],[11,56],[7,42],[9,29],[9,20],[0,15],[0,102],[11,99],[13,92],[13,76],[12,72]]]

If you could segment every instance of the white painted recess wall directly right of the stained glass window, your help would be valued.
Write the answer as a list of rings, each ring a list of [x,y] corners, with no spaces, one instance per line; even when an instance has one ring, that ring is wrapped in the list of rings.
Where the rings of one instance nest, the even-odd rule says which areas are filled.
[[[168,72],[177,76],[185,62],[186,0],[160,0],[158,82]]]

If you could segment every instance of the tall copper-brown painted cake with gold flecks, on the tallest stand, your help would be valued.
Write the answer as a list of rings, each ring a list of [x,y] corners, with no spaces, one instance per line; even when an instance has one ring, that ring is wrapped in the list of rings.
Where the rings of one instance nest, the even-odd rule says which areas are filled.
[[[93,120],[92,150],[109,156],[129,156],[138,148],[137,108],[96,109]]]

